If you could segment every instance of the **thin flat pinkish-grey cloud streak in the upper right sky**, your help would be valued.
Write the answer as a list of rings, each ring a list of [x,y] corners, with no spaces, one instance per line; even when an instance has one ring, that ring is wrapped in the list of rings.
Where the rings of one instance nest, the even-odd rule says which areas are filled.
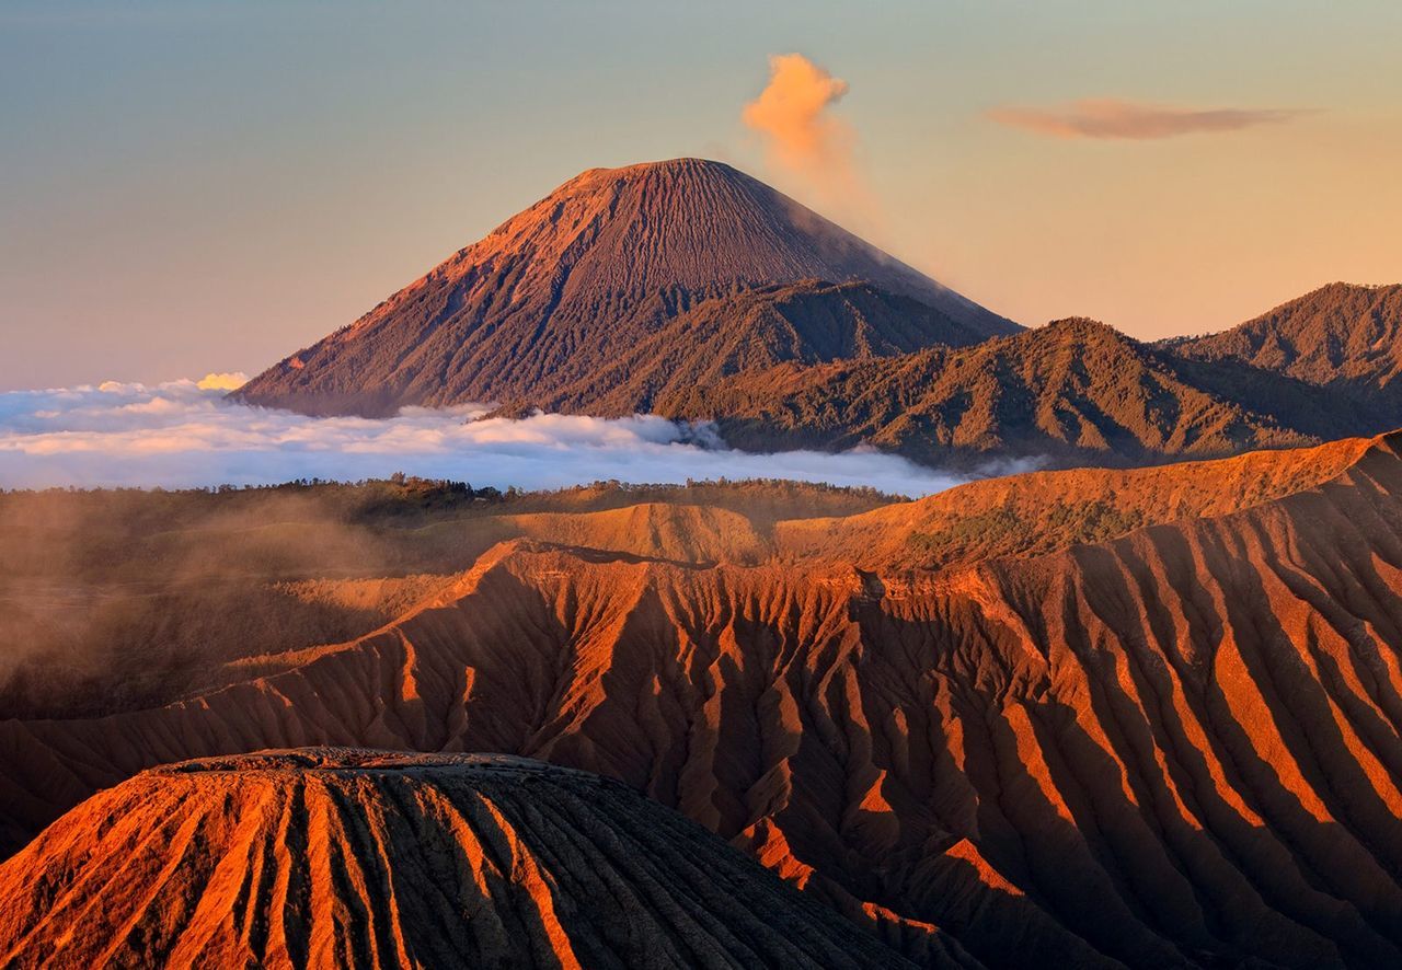
[[[1166,139],[1279,125],[1305,114],[1297,108],[1175,108],[1116,98],[1075,101],[1059,108],[993,108],[987,118],[1059,139]]]

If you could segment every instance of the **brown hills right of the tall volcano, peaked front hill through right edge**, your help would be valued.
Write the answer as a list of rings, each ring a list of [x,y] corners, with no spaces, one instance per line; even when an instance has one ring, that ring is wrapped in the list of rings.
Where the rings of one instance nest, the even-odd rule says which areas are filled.
[[[737,447],[875,446],[941,465],[1016,457],[1145,464],[1293,447],[1402,423],[1387,363],[1398,346],[1389,334],[1402,327],[1396,293],[1402,287],[1336,285],[1235,331],[1157,345],[1098,321],[1060,320],[901,355],[693,371],[625,399],[714,421]],[[1328,336],[1301,336],[1325,327],[1321,320]],[[1363,335],[1370,352],[1339,350]],[[1288,367],[1241,349],[1291,339],[1311,349]]]

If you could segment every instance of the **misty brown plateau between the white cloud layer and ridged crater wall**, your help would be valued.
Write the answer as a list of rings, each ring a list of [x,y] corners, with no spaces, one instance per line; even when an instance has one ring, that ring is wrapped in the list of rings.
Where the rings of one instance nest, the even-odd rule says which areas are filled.
[[[753,562],[777,521],[889,500],[801,482],[0,493],[0,712],[94,716],[213,690],[230,662],[377,629],[505,540]]]

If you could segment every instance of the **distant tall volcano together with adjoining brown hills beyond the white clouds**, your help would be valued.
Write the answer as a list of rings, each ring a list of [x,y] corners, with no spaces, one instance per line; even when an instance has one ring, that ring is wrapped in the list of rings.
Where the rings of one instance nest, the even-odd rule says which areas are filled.
[[[712,421],[750,450],[1143,464],[1402,425],[1402,286],[1143,343],[1019,325],[735,168],[590,170],[236,395]]]

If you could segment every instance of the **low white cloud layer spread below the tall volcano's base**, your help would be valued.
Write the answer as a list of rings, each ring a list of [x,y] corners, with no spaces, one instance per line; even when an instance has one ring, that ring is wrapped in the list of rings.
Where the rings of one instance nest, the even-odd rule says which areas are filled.
[[[711,426],[656,416],[484,419],[481,407],[407,408],[386,421],[306,418],[224,401],[227,380],[0,394],[0,488],[191,488],[394,471],[474,486],[597,479],[791,478],[930,495],[965,481],[876,451],[750,454]],[[205,384],[205,387],[202,387]]]

